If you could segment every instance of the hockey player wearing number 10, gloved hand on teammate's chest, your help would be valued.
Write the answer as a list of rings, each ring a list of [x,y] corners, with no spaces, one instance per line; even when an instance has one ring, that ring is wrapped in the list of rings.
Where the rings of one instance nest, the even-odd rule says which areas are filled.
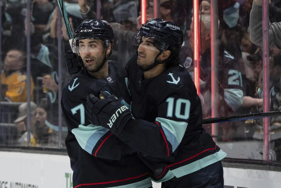
[[[114,95],[103,93],[104,100],[87,97],[91,121],[138,150],[162,187],[222,188],[220,160],[226,154],[202,128],[196,87],[179,65],[181,28],[155,18],[142,25],[133,41],[138,57],[126,65],[133,117]]]

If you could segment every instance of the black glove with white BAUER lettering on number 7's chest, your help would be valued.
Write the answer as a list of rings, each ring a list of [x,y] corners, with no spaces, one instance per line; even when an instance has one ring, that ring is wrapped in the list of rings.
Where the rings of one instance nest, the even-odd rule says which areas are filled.
[[[99,99],[93,94],[86,96],[86,114],[92,124],[108,128],[118,136],[125,123],[133,117],[131,111],[121,104],[116,96],[104,91],[101,95],[104,99]]]

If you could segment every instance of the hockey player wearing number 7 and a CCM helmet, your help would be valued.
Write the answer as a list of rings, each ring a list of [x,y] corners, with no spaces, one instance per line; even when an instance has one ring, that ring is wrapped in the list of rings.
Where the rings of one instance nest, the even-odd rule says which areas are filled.
[[[65,143],[76,188],[152,186],[149,169],[133,148],[85,117],[88,94],[106,90],[123,104],[130,102],[125,68],[107,60],[113,39],[110,25],[98,19],[84,20],[72,41],[72,51],[80,54],[84,68],[64,88],[61,108],[68,127]]]

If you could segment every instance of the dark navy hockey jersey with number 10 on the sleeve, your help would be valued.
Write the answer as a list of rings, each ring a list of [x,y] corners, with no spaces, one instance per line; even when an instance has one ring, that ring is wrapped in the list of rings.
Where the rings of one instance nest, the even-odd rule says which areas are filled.
[[[126,66],[132,94],[130,119],[119,138],[138,150],[155,181],[195,172],[226,156],[202,128],[202,107],[181,65],[143,80],[133,57]]]

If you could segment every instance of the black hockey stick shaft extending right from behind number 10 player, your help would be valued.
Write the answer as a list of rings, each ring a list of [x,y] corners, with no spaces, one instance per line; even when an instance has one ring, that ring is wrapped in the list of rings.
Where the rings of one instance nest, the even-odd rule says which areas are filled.
[[[202,120],[203,124],[209,123],[221,123],[227,121],[239,121],[239,120],[246,120],[246,119],[253,119],[253,118],[266,118],[271,116],[281,116],[281,111],[273,111],[273,112],[262,112],[262,113],[255,113],[255,114],[243,114],[237,116],[227,116],[227,117],[218,117],[218,118],[206,118]]]

